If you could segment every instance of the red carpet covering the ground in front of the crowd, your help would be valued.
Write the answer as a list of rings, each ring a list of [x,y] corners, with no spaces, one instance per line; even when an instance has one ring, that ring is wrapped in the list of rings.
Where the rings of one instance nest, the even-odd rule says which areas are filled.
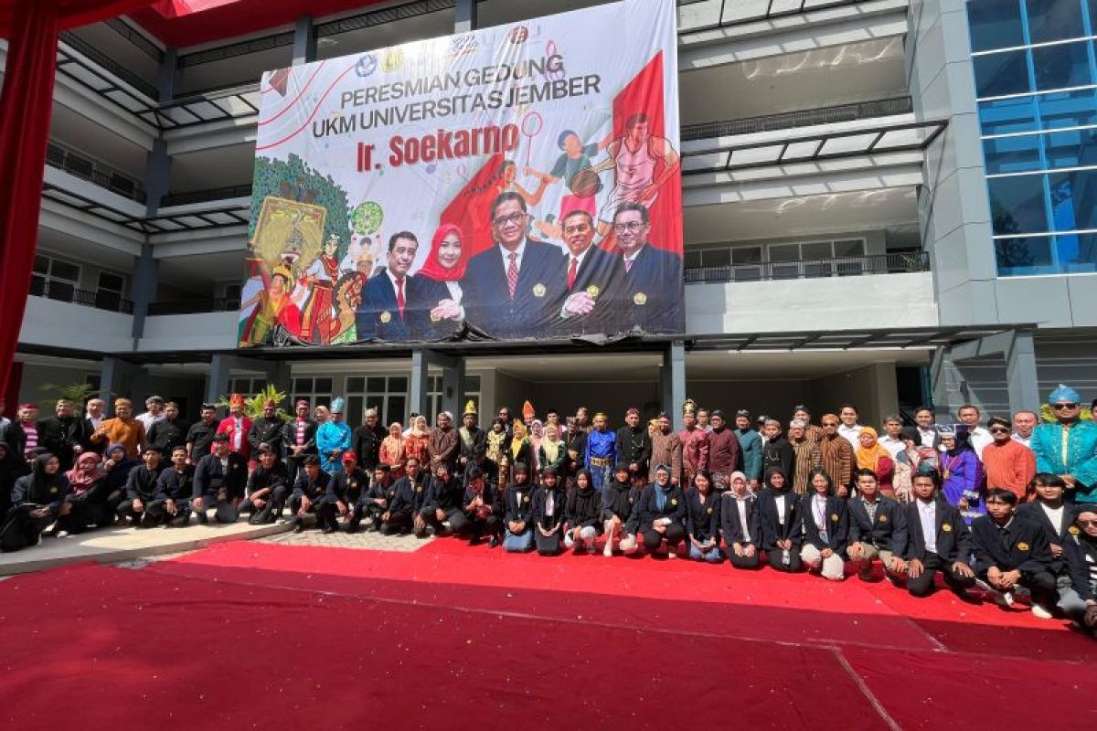
[[[1097,646],[1063,623],[683,560],[241,541],[0,582],[0,623],[21,731],[1097,721]]]

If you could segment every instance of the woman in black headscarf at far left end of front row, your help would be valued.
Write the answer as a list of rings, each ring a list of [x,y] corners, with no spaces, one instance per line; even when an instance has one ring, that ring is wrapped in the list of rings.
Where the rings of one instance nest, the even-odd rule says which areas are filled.
[[[0,527],[0,550],[36,546],[42,532],[72,510],[65,501],[68,480],[60,473],[60,467],[57,457],[39,455],[31,466],[31,473],[15,480],[11,491],[13,507]]]

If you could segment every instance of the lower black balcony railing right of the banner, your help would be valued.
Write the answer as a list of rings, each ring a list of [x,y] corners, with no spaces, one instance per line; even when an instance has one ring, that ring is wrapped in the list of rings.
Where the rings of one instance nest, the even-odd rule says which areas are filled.
[[[773,279],[817,279],[830,276],[904,274],[928,272],[929,254],[903,251],[869,256],[835,256],[794,262],[756,262],[727,266],[695,266],[686,270],[686,284],[714,282],[770,282]]]

